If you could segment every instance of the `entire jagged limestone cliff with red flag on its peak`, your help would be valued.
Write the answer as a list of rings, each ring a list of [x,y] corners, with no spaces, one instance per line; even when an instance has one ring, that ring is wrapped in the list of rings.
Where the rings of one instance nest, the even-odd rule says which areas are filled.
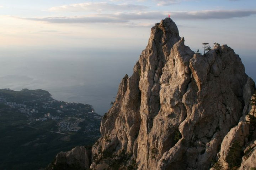
[[[170,18],[151,29],[133,75],[123,78],[101,121],[91,169],[240,166],[230,162],[230,148],[234,142],[243,148],[255,140],[255,133],[248,140],[251,125],[246,122],[254,81],[227,45],[201,55],[184,42]],[[249,158],[239,158],[241,167],[254,168],[255,155],[252,148]]]

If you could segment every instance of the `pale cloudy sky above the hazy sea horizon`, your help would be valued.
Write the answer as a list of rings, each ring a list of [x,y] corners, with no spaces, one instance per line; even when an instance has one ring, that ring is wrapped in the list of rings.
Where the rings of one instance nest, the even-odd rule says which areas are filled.
[[[193,50],[218,42],[255,52],[255,0],[0,0],[0,49],[143,50],[168,14]]]

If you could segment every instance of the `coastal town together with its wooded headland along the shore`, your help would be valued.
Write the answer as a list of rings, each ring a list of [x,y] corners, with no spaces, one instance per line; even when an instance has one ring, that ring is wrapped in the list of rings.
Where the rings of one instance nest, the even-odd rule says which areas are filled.
[[[83,127],[84,133],[96,132],[101,120],[101,116],[94,113],[89,104],[57,101],[44,90],[1,89],[0,103],[9,107],[0,108],[1,110],[17,110],[26,115],[27,125],[30,126],[37,121],[54,120],[56,127],[53,130],[58,132],[77,132],[82,129],[80,123],[85,121],[88,124]]]

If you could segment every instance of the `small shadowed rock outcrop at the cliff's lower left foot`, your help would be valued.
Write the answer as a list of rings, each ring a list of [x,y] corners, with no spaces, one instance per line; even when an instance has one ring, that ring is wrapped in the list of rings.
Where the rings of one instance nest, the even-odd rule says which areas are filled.
[[[68,152],[60,152],[55,160],[49,164],[48,170],[86,170],[90,169],[91,150],[84,146],[77,146]]]

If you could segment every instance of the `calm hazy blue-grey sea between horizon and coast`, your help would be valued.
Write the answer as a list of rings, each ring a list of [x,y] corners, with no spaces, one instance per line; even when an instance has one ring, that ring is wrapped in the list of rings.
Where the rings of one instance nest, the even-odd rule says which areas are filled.
[[[44,89],[53,98],[94,106],[104,114],[125,74],[131,75],[141,50],[1,50],[0,88]],[[241,56],[256,80],[256,59]]]

